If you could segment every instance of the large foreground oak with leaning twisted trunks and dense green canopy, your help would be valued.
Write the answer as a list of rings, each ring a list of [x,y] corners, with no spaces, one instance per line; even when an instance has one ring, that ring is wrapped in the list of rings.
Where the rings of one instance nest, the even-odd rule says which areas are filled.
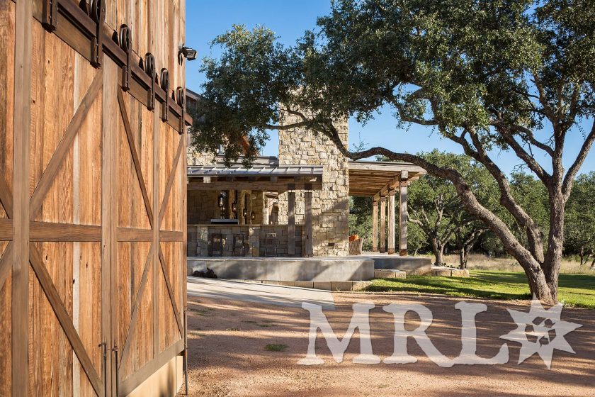
[[[531,291],[557,301],[565,204],[595,140],[595,3],[579,0],[336,0],[293,47],[268,29],[234,26],[205,60],[195,145],[228,159],[275,128],[326,136],[347,157],[382,155],[450,180],[468,213],[482,220],[521,264]],[[455,169],[385,147],[350,151],[333,121],[367,121],[391,106],[397,123],[434,128],[483,164],[499,202],[525,225],[526,244],[478,200]],[[293,116],[291,121],[285,115]],[[295,120],[295,121],[294,121]],[[579,121],[590,123],[583,133]],[[565,142],[582,140],[565,169]],[[512,192],[494,150],[514,152],[548,191],[546,233]],[[536,160],[536,154],[546,160]]]

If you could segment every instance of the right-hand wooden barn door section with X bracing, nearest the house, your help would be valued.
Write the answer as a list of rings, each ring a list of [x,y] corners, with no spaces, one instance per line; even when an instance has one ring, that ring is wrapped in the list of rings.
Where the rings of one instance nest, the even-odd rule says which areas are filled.
[[[106,65],[107,66],[107,65]],[[108,68],[106,68],[108,70]],[[116,72],[114,69],[113,72]],[[183,350],[184,135],[115,83],[112,334],[125,396]]]

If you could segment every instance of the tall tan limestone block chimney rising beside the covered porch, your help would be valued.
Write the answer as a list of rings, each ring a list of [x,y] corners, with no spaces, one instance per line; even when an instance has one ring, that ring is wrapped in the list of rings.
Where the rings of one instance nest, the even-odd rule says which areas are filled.
[[[284,123],[293,123],[285,116]],[[347,122],[336,123],[344,145],[348,145]],[[347,159],[333,142],[304,128],[279,130],[279,164],[322,165],[322,187],[312,194],[314,256],[348,255],[349,177]],[[288,196],[279,195],[279,223],[288,223]],[[295,222],[304,223],[302,191],[295,194]]]

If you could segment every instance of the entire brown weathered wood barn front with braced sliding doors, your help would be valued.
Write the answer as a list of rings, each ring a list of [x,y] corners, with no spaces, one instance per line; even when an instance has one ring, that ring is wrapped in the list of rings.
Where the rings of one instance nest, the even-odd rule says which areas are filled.
[[[67,17],[0,0],[0,396],[125,396],[184,350],[184,1],[106,0],[94,67]],[[147,76],[123,90],[123,24],[154,109]]]

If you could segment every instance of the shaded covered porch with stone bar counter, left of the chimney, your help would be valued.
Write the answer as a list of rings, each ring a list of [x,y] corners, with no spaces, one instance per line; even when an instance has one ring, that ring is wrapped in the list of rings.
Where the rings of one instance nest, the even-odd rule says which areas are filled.
[[[275,160],[261,157],[249,169],[188,167],[188,195],[200,198],[188,206],[188,257],[312,257],[312,193],[322,189],[322,166]],[[296,192],[302,223],[296,223]],[[271,202],[284,193],[287,216],[279,223]]]

